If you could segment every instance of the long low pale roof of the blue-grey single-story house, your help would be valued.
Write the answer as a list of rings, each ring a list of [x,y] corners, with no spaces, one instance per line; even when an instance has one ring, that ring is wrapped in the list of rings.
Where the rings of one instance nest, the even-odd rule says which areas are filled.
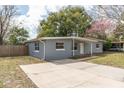
[[[104,40],[100,40],[100,39],[82,38],[82,37],[42,37],[42,38],[38,38],[38,39],[32,39],[27,42],[35,42],[35,41],[43,41],[43,40],[57,40],[57,39],[75,39],[75,40],[79,40],[79,41],[104,42]]]

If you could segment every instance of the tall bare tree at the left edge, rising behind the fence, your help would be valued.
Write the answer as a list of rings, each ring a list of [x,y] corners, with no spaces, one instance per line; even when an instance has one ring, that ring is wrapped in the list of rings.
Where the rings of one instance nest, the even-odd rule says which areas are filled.
[[[0,45],[3,44],[6,34],[9,32],[8,28],[10,27],[10,22],[16,14],[15,6],[0,6]]]

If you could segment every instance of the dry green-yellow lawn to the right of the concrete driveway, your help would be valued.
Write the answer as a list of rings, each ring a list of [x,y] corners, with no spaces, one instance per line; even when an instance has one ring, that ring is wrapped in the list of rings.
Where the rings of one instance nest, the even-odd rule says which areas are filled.
[[[97,64],[124,68],[124,52],[105,52],[103,54],[95,55],[92,57],[86,57],[82,60]]]

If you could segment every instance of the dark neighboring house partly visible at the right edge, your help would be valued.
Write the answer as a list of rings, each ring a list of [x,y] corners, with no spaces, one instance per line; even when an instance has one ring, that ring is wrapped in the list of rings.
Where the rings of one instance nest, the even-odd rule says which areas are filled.
[[[111,46],[110,50],[112,50],[112,51],[124,51],[124,41],[112,42],[112,46]]]

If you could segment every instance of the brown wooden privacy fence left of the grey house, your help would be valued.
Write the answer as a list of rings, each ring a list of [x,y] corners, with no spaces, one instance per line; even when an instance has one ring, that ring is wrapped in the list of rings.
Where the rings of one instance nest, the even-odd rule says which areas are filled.
[[[28,48],[24,45],[0,45],[0,57],[25,56]]]

